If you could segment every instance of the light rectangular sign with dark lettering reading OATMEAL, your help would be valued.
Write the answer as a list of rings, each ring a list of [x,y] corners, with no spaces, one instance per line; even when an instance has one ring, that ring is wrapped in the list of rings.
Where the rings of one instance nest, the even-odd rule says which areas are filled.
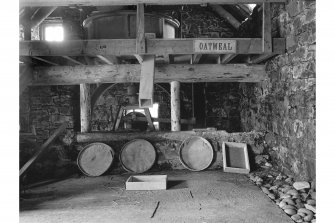
[[[236,40],[194,40],[195,53],[236,53]]]

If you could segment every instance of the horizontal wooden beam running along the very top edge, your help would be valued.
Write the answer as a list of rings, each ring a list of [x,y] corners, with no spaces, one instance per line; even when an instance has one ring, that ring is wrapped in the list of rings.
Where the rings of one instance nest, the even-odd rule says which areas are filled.
[[[20,0],[20,7],[36,6],[113,6],[113,5],[187,5],[187,4],[248,4],[286,0]]]

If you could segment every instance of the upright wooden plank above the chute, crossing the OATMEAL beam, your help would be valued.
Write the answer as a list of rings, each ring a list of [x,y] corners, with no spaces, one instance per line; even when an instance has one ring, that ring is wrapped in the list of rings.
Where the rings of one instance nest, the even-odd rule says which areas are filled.
[[[136,54],[144,54],[146,50],[144,32],[144,4],[137,4],[136,30]]]

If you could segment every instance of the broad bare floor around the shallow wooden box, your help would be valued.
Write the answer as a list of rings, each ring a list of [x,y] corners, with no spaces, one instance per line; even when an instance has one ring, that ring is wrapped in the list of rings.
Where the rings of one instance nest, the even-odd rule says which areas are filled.
[[[27,190],[20,202],[20,222],[293,222],[245,175],[150,174],[167,174],[168,190],[126,191],[129,174],[78,176]]]

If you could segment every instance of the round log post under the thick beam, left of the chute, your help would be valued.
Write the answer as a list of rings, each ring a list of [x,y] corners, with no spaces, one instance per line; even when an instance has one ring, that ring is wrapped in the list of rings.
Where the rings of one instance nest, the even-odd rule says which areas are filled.
[[[80,84],[80,127],[81,132],[89,132],[91,130],[91,95],[89,84]]]

